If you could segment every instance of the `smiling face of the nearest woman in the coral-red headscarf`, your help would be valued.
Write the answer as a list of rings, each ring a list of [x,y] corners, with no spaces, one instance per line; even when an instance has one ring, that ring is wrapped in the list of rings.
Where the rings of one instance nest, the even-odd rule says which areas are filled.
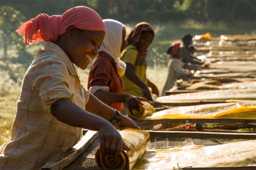
[[[105,32],[80,30],[74,27],[68,28],[66,33],[66,54],[77,67],[86,69],[90,61],[98,55]]]

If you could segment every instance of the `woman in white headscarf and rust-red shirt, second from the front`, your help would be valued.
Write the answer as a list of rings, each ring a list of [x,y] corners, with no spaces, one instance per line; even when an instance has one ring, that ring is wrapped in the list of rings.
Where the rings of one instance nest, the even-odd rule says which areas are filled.
[[[88,77],[88,89],[108,106],[123,113],[123,103],[130,109],[139,109],[140,100],[123,94],[126,64],[119,59],[126,45],[126,27],[119,21],[103,20],[106,34],[99,49],[99,55],[92,62]],[[126,113],[125,113],[126,114]]]

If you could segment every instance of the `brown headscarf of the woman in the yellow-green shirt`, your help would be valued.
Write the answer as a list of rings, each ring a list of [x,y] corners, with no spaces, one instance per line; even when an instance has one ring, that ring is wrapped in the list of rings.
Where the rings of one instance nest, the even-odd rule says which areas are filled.
[[[150,24],[146,22],[141,22],[138,23],[127,36],[127,44],[129,45],[132,44],[132,42],[140,41],[140,36],[143,31],[152,31],[154,35],[154,30],[150,26]]]

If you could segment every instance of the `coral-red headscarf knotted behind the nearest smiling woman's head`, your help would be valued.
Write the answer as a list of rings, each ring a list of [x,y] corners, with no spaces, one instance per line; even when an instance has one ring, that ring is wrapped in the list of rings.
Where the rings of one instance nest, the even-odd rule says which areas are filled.
[[[58,37],[65,33],[66,28],[71,25],[82,30],[106,32],[100,15],[85,6],[71,8],[63,15],[39,14],[23,23],[16,31],[23,36],[26,45],[32,45],[38,41],[56,42]]]

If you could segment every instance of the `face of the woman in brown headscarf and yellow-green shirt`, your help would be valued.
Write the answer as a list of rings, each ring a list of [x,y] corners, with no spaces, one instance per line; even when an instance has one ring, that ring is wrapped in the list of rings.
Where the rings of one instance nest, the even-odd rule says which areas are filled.
[[[151,31],[144,31],[140,36],[140,40],[136,42],[136,46],[140,52],[145,51],[153,41],[154,34]]]

